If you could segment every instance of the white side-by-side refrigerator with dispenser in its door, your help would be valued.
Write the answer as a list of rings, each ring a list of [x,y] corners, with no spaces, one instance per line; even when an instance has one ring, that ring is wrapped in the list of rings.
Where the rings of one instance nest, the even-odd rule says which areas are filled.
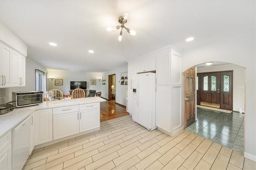
[[[156,73],[137,74],[132,84],[132,120],[149,131],[156,127]]]

